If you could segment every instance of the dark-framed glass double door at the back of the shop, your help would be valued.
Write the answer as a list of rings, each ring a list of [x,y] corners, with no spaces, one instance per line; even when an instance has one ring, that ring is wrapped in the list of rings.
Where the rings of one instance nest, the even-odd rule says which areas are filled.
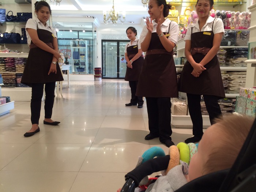
[[[102,40],[102,78],[123,79],[126,73],[125,45],[129,40]]]

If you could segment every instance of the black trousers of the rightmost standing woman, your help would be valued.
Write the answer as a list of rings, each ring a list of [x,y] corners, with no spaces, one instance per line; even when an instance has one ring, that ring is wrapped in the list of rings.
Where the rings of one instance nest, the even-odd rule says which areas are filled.
[[[207,112],[211,125],[214,124],[214,119],[222,117],[221,108],[218,104],[218,97],[215,95],[203,95]],[[201,112],[201,95],[187,93],[188,110],[193,123],[193,135],[203,135],[203,117]]]

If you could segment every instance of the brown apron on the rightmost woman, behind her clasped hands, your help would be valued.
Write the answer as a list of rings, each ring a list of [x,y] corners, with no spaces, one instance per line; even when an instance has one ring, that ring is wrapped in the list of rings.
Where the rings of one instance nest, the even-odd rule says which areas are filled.
[[[214,23],[214,22],[213,22]],[[212,23],[212,31],[213,31]],[[193,48],[212,48],[214,34],[212,31],[200,31],[192,33],[191,28],[191,49]],[[205,54],[195,53],[192,55],[196,63],[200,63]],[[192,65],[187,61],[182,69],[180,79],[178,80],[178,90],[184,93],[197,95],[215,95],[219,98],[225,97],[224,87],[221,78],[221,69],[219,61],[215,55],[212,60],[204,65],[206,68],[199,77],[194,77]]]

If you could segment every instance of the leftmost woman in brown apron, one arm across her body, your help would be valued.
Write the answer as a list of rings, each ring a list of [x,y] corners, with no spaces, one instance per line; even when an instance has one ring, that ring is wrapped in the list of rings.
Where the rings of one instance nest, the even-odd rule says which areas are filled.
[[[26,23],[27,42],[30,50],[21,80],[22,83],[32,87],[30,104],[32,128],[24,134],[25,137],[30,137],[40,131],[38,124],[44,84],[44,124],[57,125],[60,123],[51,119],[55,82],[62,81],[63,76],[57,63],[60,54],[58,53],[56,32],[46,23],[51,14],[49,4],[45,1],[37,1],[35,13],[37,18],[29,19]]]

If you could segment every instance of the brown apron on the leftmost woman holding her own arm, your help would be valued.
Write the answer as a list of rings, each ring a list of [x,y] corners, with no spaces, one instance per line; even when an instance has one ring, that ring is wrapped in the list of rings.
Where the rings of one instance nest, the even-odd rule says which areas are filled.
[[[52,47],[53,36],[50,31],[37,29],[38,38],[48,46]],[[50,65],[52,64],[53,54],[40,49],[31,41],[29,56],[22,75],[21,82],[31,86],[31,83],[49,83],[63,81],[60,66],[57,61],[57,74],[48,75]]]

